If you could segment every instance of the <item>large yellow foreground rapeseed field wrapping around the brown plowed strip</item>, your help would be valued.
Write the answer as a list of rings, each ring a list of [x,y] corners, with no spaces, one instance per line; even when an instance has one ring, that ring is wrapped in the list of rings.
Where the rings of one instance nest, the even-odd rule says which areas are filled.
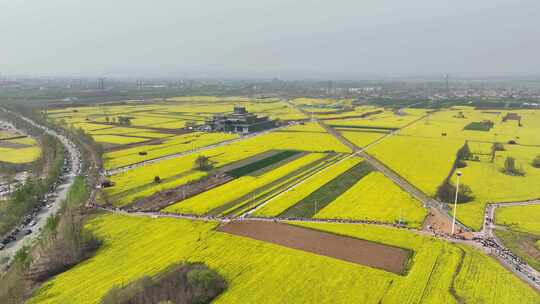
[[[369,225],[304,226],[410,248],[415,251],[412,264],[405,276],[399,276],[216,232],[215,223],[102,215],[88,224],[104,241],[97,254],[46,282],[29,303],[99,303],[111,287],[183,261],[206,263],[227,280],[228,288],[215,303],[457,304],[540,299],[490,257],[468,247]]]

